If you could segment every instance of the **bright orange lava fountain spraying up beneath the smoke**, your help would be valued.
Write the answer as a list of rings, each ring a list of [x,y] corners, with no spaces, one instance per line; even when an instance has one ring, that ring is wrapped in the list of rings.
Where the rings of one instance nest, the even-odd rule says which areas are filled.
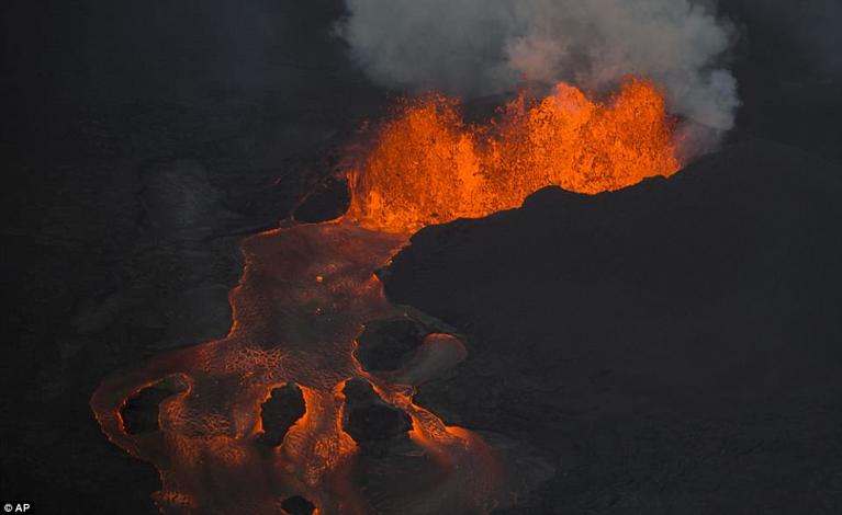
[[[658,88],[635,78],[606,103],[565,83],[531,105],[520,94],[486,126],[465,125],[440,95],[406,101],[348,172],[347,217],[413,232],[518,207],[545,186],[593,194],[669,176],[672,126]]]

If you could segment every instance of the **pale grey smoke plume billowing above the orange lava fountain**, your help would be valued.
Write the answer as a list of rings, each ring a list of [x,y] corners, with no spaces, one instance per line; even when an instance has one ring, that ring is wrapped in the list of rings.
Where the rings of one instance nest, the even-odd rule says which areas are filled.
[[[521,82],[605,91],[658,81],[696,139],[732,127],[739,101],[720,67],[733,39],[708,0],[346,0],[339,32],[375,81],[473,96]]]

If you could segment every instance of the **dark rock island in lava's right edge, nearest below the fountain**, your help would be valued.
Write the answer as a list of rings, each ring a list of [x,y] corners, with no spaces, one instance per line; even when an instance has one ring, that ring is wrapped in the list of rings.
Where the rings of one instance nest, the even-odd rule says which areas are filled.
[[[412,358],[429,330],[409,318],[377,320],[357,339],[357,359],[369,371],[397,370]]]

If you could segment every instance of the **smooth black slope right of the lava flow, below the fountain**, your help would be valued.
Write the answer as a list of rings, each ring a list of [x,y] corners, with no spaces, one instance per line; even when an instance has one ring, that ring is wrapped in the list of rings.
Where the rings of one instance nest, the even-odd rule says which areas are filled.
[[[524,513],[832,513],[838,168],[746,141],[670,180],[422,230],[386,294],[470,341],[416,401],[542,450],[557,472]]]

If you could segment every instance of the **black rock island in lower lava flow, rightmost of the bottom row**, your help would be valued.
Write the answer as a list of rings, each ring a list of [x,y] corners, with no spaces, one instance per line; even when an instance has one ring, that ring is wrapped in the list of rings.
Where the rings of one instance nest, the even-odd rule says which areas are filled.
[[[409,416],[383,402],[368,381],[351,379],[343,392],[346,398],[343,428],[358,444],[404,436],[412,428]]]

